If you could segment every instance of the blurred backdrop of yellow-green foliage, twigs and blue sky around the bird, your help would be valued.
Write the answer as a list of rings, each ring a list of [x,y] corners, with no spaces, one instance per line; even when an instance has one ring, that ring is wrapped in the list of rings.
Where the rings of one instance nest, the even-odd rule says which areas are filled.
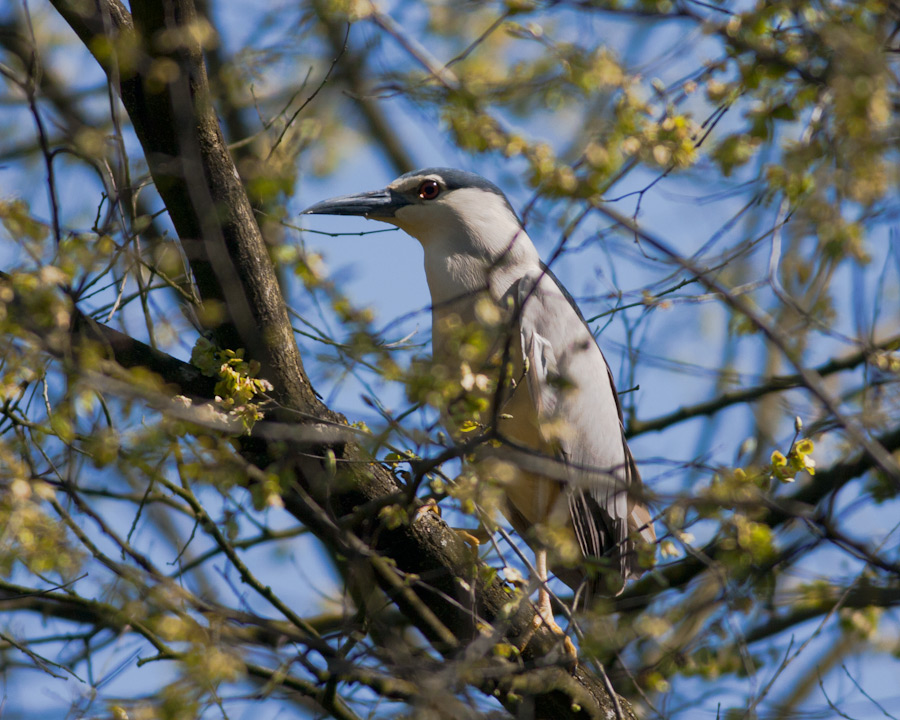
[[[190,37],[155,41],[202,45],[307,372],[359,420],[372,456],[411,495],[446,498],[470,530],[503,527],[514,469],[497,463],[477,482],[458,465],[498,421],[503,313],[482,307],[451,328],[462,365],[435,365],[413,327],[422,314],[382,325],[286,208],[337,171],[358,181],[350,192],[410,158],[465,157],[503,179],[560,275],[580,271],[567,284],[620,390],[638,388],[622,403],[659,552],[622,597],[576,616],[583,662],[602,662],[641,717],[715,717],[719,704],[723,717],[846,717],[845,706],[861,717],[873,697],[896,713],[883,681],[900,648],[900,7],[198,8]],[[90,49],[125,75],[147,61],[133,34]],[[371,578],[283,512],[287,468],[236,452],[280,408],[252,348],[198,331],[223,308],[199,303],[193,239],[174,232],[88,49],[50,5],[30,3],[0,10],[0,54],[6,709],[497,712],[467,690],[474,664],[445,665]],[[154,62],[165,87],[178,66]],[[362,172],[372,158],[379,179]],[[394,260],[382,280],[403,286]],[[217,402],[77,347],[76,311],[190,358],[215,378]],[[879,466],[854,432],[895,464]],[[339,458],[321,452],[339,482]],[[419,516],[407,499],[368,510],[387,528]],[[555,530],[545,540],[570,556]],[[511,613],[527,572],[500,537],[478,551],[509,580]],[[491,652],[516,655],[505,643]],[[31,697],[66,677],[64,692]]]

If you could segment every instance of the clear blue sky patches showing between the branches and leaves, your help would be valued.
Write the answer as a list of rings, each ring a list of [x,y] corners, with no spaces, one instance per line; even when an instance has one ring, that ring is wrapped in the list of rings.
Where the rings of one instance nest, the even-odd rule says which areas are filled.
[[[410,34],[416,36],[421,33],[420,16],[415,12],[406,12],[408,8],[408,3],[395,3],[388,11]],[[260,41],[261,35],[253,30],[254,23],[246,21],[246,12],[244,4],[222,3],[218,6],[221,28],[225,33],[225,44],[229,49],[242,48],[251,42]],[[566,25],[570,20],[571,18],[563,15],[560,21],[563,32],[573,33],[572,37],[566,39],[580,38],[582,41],[590,40],[609,45],[633,65],[641,66],[648,80],[660,77],[664,82],[673,82],[702,59],[715,54],[711,41],[698,37],[694,37],[692,44],[688,45],[689,51],[684,51],[682,43],[678,45],[677,52],[672,52],[671,48],[681,37],[681,30],[677,26],[662,30],[637,30],[630,22],[604,19],[602,22],[596,20],[585,27],[572,28],[570,22],[568,26]],[[351,38],[354,42],[358,42],[372,38],[374,33],[372,27],[358,24],[353,28]],[[285,28],[272,27],[263,33],[262,37],[272,44],[277,44],[285,42],[289,35]],[[447,59],[447,54],[450,53],[448,49],[447,54],[442,54],[439,43],[431,49],[440,59]],[[66,52],[69,53],[71,50]],[[53,53],[50,55],[50,59],[52,58]],[[378,60],[385,66],[403,66],[409,63],[403,52],[390,40],[384,41],[383,51]],[[101,75],[93,60],[86,55],[72,57],[71,60],[67,56],[66,62],[57,65],[66,67],[72,82],[79,86],[89,88],[101,82]],[[321,72],[322,68],[314,68],[314,71]],[[519,209],[531,198],[533,191],[523,179],[521,162],[505,160],[498,156],[473,157],[461,152],[450,142],[432,109],[414,106],[401,98],[386,100],[383,105],[391,122],[400,130],[413,156],[422,166],[446,165],[480,172],[497,182],[507,192],[513,206]],[[97,112],[103,111],[102,106],[93,109]],[[701,99],[695,102],[694,111],[698,117],[702,117],[708,109],[703,107]],[[316,105],[311,105],[309,112],[314,113],[315,110]],[[574,114],[560,117],[552,112],[546,112],[527,122],[514,118],[508,118],[508,121],[520,122],[519,129],[527,133],[531,139],[545,140],[561,149],[577,130],[578,118]],[[740,122],[740,112],[735,110],[721,126],[720,131],[736,126]],[[21,127],[22,137],[27,137],[31,127],[26,116],[23,116]],[[13,140],[14,138],[7,138],[6,142]],[[130,143],[132,150],[136,151],[133,139],[130,139]],[[137,157],[136,152],[134,157]],[[65,165],[67,161],[61,162]],[[304,159],[301,158],[301,164],[303,162]],[[291,211],[290,219],[303,227],[332,233],[358,233],[384,228],[386,226],[355,218],[297,216],[313,202],[334,195],[381,187],[393,179],[395,174],[377,150],[363,144],[352,146],[342,154],[335,171],[326,177],[317,177],[301,170],[298,192],[287,200],[287,206]],[[63,213],[67,226],[82,228],[88,226],[92,220],[89,209],[95,207],[96,203],[92,204],[93,201],[90,199],[82,203],[82,200],[85,197],[98,196],[99,185],[96,176],[84,169],[60,173],[60,176],[62,181],[59,194],[65,199]],[[638,170],[629,176],[621,187],[616,188],[615,194],[645,187],[656,176],[656,171]],[[40,167],[12,166],[0,169],[0,188],[4,196],[18,194],[27,197],[34,211],[40,216],[47,217],[49,211],[41,179]],[[729,189],[740,179],[739,177],[726,186],[720,181],[711,180],[702,168],[700,171],[675,174],[659,183],[644,197],[641,221],[648,229],[665,237],[671,245],[685,253],[691,253],[712,237],[746,198],[735,195],[719,198],[715,202],[698,199]],[[633,202],[633,200],[623,201],[616,207],[621,212],[627,213],[633,210]],[[776,210],[775,206],[764,209],[763,219],[768,218],[768,222],[771,223]],[[545,256],[558,240],[559,230],[555,222],[562,211],[563,208],[559,205],[542,203],[529,224],[529,233]],[[586,223],[582,235],[573,238],[574,244],[584,242],[585,249],[563,256],[560,262],[554,265],[554,271],[576,297],[607,296],[605,299],[595,299],[587,305],[583,304],[582,307],[588,315],[592,312],[603,312],[613,306],[614,298],[611,296],[613,287],[625,293],[628,298],[637,298],[642,288],[658,282],[671,271],[671,267],[658,262],[655,258],[648,259],[641,255],[640,250],[628,238],[597,237],[595,234],[604,227],[605,225],[598,219]],[[738,227],[726,236],[725,242],[735,241],[743,232],[746,232],[746,228]],[[888,282],[882,303],[887,309],[882,310],[882,317],[884,320],[889,318],[896,320],[896,311],[890,309],[890,304],[897,302],[898,272],[891,270],[891,263],[897,262],[897,248],[896,240],[889,238],[887,232],[887,227],[882,228],[873,237],[870,246],[873,262],[858,269],[855,278],[849,269],[840,270],[835,277],[834,295],[839,313],[836,327],[843,333],[855,334],[855,307],[860,305],[865,307],[870,316],[874,313],[874,298],[879,292],[878,280],[885,268],[888,271]],[[300,236],[289,232],[288,241],[302,241],[308,249],[321,253],[332,275],[342,279],[342,287],[352,300],[359,306],[374,309],[376,326],[384,327],[393,323],[396,318],[419,311],[410,320],[392,327],[391,334],[385,338],[386,340],[396,340],[415,331],[412,341],[427,343],[430,336],[430,318],[426,310],[429,303],[428,290],[422,270],[421,249],[415,240],[397,231],[363,237],[348,235],[337,238],[308,232]],[[767,246],[762,246],[745,266],[747,277],[741,278],[741,282],[750,282],[763,277],[767,253]],[[10,244],[5,242],[5,239],[0,241],[0,260],[10,263],[14,257],[16,251]],[[764,347],[758,338],[740,339],[726,350],[728,313],[714,298],[695,297],[699,292],[696,287],[689,287],[682,293],[682,300],[678,300],[676,296],[670,309],[656,310],[649,317],[639,308],[619,314],[604,327],[599,337],[600,345],[610,360],[613,372],[619,379],[620,386],[624,387],[630,380],[628,372],[633,359],[629,356],[626,345],[628,339],[626,327],[628,324],[637,324],[638,330],[634,334],[634,339],[639,343],[634,349],[643,355],[638,361],[634,381],[640,385],[640,389],[628,398],[628,402],[635,403],[637,416],[641,419],[662,415],[681,405],[696,403],[719,392],[711,381],[710,372],[714,372],[721,364],[722,358],[729,353],[734,355],[735,367],[744,373],[742,385],[754,384],[758,379],[764,357]],[[302,312],[312,313],[312,305],[300,288],[292,289],[291,300]],[[135,308],[128,325],[136,335],[142,332],[141,325],[137,322],[138,318]],[[319,320],[314,313],[310,318]],[[327,321],[327,316],[325,320]],[[813,337],[815,342],[809,349],[812,363],[826,359],[835,352],[835,348],[842,345],[840,339],[821,335]],[[182,356],[186,352],[185,348],[190,346],[189,334],[185,340],[187,341],[183,342],[180,348],[176,348],[176,351],[180,350]],[[320,346],[303,339],[300,340],[300,345],[306,357],[321,351]],[[849,350],[849,347],[844,349]],[[421,352],[427,352],[427,347]],[[681,365],[656,362],[654,358],[674,360]],[[351,420],[365,418],[372,421],[371,409],[360,399],[363,387],[359,382],[348,378],[335,388],[329,384],[323,367],[308,364],[308,369],[317,381],[319,390],[323,394],[330,395],[337,409],[345,412]],[[786,367],[782,369],[787,370]],[[383,395],[385,401],[394,409],[404,406],[402,389],[384,388]],[[808,419],[812,419],[815,404],[808,403],[808,406],[810,409]],[[663,434],[638,437],[632,446],[650,486],[658,492],[676,492],[684,488],[686,471],[673,473],[673,468],[691,461],[699,449],[705,450],[707,460],[711,464],[734,463],[736,448],[752,434],[752,423],[753,418],[745,409],[736,408],[722,416],[713,434],[708,438],[704,432],[704,421],[695,420]],[[785,409],[777,426],[770,429],[775,441],[773,449],[775,447],[786,449],[786,444],[793,434],[791,425],[792,414]],[[844,450],[845,448],[839,447],[839,439],[834,437],[820,444],[817,459],[820,464],[827,464],[831,457]],[[693,478],[692,482],[702,486],[708,482],[709,475],[708,471],[700,470],[694,471],[690,477]],[[840,496],[840,502],[848,508],[852,508],[856,499],[854,487],[858,485],[845,490]],[[214,501],[213,498],[209,500]],[[883,537],[893,527],[896,509],[896,504],[880,508],[871,506],[859,508],[854,511],[854,526],[859,528],[861,535],[868,535],[871,538]],[[452,512],[450,516],[452,517]],[[268,521],[275,526],[282,526],[287,524],[288,519],[270,512]],[[695,530],[695,534],[698,535],[698,540],[702,540],[703,526]],[[892,544],[896,546],[896,540]],[[285,555],[276,558],[275,561],[271,561],[265,552],[257,555],[248,553],[246,559],[253,562],[259,573],[265,576],[298,612],[315,612],[327,606],[325,596],[333,593],[335,586],[327,563],[318,555],[316,542],[309,538],[296,539],[284,545],[284,552]],[[809,577],[829,576],[833,573],[852,574],[858,571],[858,566],[848,563],[845,554],[836,550],[812,554],[803,567]],[[730,625],[726,624],[726,632],[737,633],[737,628],[742,623],[742,618],[735,616]],[[893,618],[893,623],[885,621],[884,627],[887,629],[886,632],[892,633],[896,642],[896,618]],[[815,622],[797,627],[794,630],[794,648],[809,638],[815,632],[815,628]],[[28,628],[29,631],[32,629],[37,628]],[[789,692],[793,682],[805,674],[809,665],[817,662],[833,640],[834,636],[830,630],[819,639],[813,640],[773,686],[771,697],[778,698]],[[740,705],[748,689],[765,686],[789,645],[790,638],[779,638],[777,643],[764,648],[765,664],[752,682],[735,678],[716,682],[712,685],[714,689],[712,697],[701,703],[700,713],[692,714],[696,712],[695,709],[687,708],[678,717],[696,717],[702,714],[703,717],[714,718],[719,702],[723,708],[729,703]],[[117,657],[121,658],[122,653],[127,655],[128,650],[119,649],[117,652],[119,652]],[[896,661],[889,660],[883,653],[866,650],[853,657],[848,668],[867,692],[889,702],[889,710],[896,711],[900,707],[900,700],[893,684],[897,670]],[[162,681],[170,671],[160,669],[159,672],[158,679]],[[36,693],[35,687],[41,682],[41,677],[25,677],[35,679],[18,686],[10,685],[6,689],[7,711],[12,716],[16,716],[16,713],[21,717],[29,716],[30,712],[38,710],[37,705],[44,706],[45,700],[47,707],[54,705],[59,707],[60,698],[66,696],[67,692],[78,692],[76,688],[61,692],[53,689]],[[140,682],[138,678],[141,677],[143,676],[140,673],[124,672],[111,683],[108,691],[128,694],[134,689],[131,683]],[[842,699],[840,706],[853,717],[877,716],[873,706],[839,669],[828,673],[823,682],[829,697],[835,702]],[[680,697],[695,696],[701,690],[708,690],[709,687],[698,680],[676,681]],[[38,697],[43,699],[39,701],[36,699]],[[832,716],[829,715],[831,711],[821,692],[813,692],[804,709],[822,713],[818,717]],[[52,711],[48,710],[46,716],[52,717]]]

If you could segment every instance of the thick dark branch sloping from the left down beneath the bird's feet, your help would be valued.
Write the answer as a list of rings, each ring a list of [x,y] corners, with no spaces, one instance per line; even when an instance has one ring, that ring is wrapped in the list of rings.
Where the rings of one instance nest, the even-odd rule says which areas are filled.
[[[18,311],[17,320],[27,321],[26,308],[15,298],[8,307],[14,313]],[[212,380],[187,363],[87,319],[77,311],[72,328],[75,347],[87,341],[99,344],[126,367],[152,369],[167,384],[177,387],[178,392],[202,397],[200,391],[204,390],[207,399],[212,397]],[[47,350],[69,357],[71,348],[62,347],[54,337]],[[304,454],[303,450],[308,448],[302,448],[298,454]],[[258,459],[273,460],[275,456],[265,453]],[[382,466],[372,464],[353,445],[344,447],[339,462],[346,470],[329,488],[327,510],[303,487],[302,480],[312,477],[315,484],[315,479],[321,476],[321,469],[310,465],[303,468],[309,474],[301,475],[298,486],[286,493],[286,508],[332,551],[369,563],[385,592],[448,658],[459,656],[464,660],[471,643],[481,641],[482,652],[490,659],[495,641],[484,644],[479,623],[499,627],[502,636],[517,645],[530,634],[534,620],[530,603],[523,602],[512,617],[507,617],[512,600],[509,589],[486,565],[476,562],[468,545],[443,520],[433,513],[425,513],[411,525],[396,529],[380,525],[376,522],[377,509],[386,502],[404,502],[408,497],[407,488]],[[374,509],[361,512],[364,507]],[[351,520],[352,525],[347,527]],[[391,562],[384,562],[385,557]],[[500,636],[495,640],[499,639]],[[469,681],[487,694],[499,695],[510,710],[517,711],[522,702],[531,704],[538,718],[593,718],[613,712],[612,699],[604,684],[584,668],[572,673],[552,666],[539,669],[542,659],[556,650],[558,638],[541,628],[521,656],[526,666],[534,666],[532,669],[526,671],[518,665],[496,660],[485,668],[483,676],[471,677]],[[624,700],[620,704],[626,717],[633,717],[628,704]]]

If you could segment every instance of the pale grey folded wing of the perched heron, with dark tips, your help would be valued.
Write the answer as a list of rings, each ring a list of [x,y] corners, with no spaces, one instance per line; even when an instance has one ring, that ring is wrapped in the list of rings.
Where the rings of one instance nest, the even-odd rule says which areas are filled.
[[[612,373],[555,278],[534,272],[514,290],[527,386],[541,434],[565,463],[575,536],[585,556],[607,559],[624,583],[640,574],[629,532],[640,530],[648,541],[655,533],[649,513],[629,496],[641,480]],[[564,571],[557,575],[572,585]]]

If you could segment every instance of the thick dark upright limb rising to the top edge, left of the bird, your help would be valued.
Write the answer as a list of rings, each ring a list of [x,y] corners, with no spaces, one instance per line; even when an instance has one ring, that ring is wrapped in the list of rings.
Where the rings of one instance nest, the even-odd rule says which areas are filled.
[[[223,347],[244,347],[286,405],[323,413],[303,371],[281,291],[209,97],[190,2],[54,0],[118,88]],[[97,43],[95,38],[110,42]],[[98,49],[142,52],[127,66]],[[161,68],[177,73],[160,80]]]

